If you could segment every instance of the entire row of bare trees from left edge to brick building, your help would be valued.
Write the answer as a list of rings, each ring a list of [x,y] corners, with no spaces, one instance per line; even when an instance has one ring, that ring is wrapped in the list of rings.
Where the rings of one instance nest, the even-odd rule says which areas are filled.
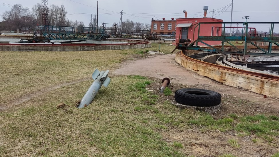
[[[0,16],[3,21],[0,22],[0,31],[13,31],[13,30],[34,30],[36,25],[43,25],[43,8],[41,3],[32,7],[32,9],[23,7],[21,4],[15,4],[11,10],[5,11]],[[54,26],[70,26],[70,27],[85,27],[83,21],[72,21],[66,17],[67,11],[64,5],[49,5],[48,9],[48,25]],[[91,14],[90,23],[88,27],[96,27],[96,14]],[[122,33],[142,33],[150,32],[150,23],[140,23],[132,20],[125,20],[122,24],[118,25],[118,29]],[[98,26],[101,27],[101,26]],[[113,30],[113,27],[107,27]],[[134,31],[131,31],[134,30]]]

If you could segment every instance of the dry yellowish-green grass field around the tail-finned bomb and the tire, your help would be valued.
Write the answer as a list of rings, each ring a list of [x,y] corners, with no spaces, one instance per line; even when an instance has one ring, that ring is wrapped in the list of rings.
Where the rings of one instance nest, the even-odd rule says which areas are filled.
[[[109,75],[91,105],[75,107],[96,68],[113,71],[143,51],[0,52],[0,156],[279,156],[275,111],[244,114],[259,104],[223,95],[222,116],[172,105],[175,90],[198,86],[160,94],[157,78]]]

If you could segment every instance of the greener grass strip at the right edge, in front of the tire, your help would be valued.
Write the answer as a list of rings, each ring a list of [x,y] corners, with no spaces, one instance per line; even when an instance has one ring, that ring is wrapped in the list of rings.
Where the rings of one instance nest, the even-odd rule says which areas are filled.
[[[265,115],[238,117],[230,114],[228,116],[231,118],[214,120],[209,114],[204,114],[197,119],[192,118],[188,122],[201,127],[202,130],[219,130],[221,132],[235,130],[242,136],[255,134],[268,142],[272,142],[279,135],[279,122]]]

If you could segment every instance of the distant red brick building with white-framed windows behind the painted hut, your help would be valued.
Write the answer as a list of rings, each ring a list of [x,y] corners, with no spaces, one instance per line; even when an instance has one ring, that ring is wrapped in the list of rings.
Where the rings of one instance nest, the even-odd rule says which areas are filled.
[[[152,34],[175,34],[176,32],[176,20],[154,20],[151,21],[151,33]]]

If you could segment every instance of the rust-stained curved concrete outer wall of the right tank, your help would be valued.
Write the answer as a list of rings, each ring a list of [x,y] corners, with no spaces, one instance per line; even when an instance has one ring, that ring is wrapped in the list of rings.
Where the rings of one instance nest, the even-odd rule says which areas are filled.
[[[176,54],[175,60],[186,69],[192,70],[222,84],[242,88],[258,94],[267,95],[269,97],[279,98],[279,81],[263,79],[260,77],[203,65],[185,59],[180,53]]]

